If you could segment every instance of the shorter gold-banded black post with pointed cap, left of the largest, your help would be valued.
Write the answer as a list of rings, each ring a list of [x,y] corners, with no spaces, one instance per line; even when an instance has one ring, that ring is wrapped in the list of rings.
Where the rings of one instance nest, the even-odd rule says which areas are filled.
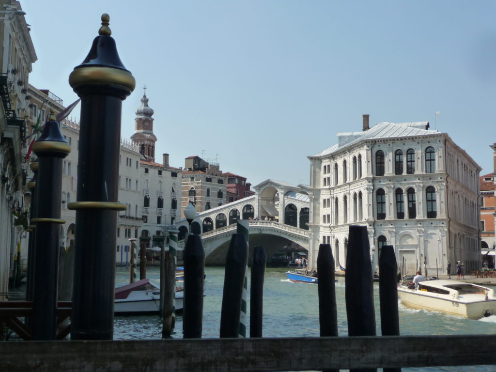
[[[39,164],[35,191],[37,217],[31,220],[36,224],[32,339],[55,340],[60,224],[65,222],[61,220],[62,161],[70,146],[62,136],[53,110],[40,138],[33,144],[33,152]]]

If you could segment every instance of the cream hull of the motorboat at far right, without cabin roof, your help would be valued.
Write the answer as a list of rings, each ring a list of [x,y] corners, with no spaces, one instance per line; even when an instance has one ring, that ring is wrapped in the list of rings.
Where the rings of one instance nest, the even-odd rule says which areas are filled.
[[[450,284],[452,283],[450,282]],[[454,291],[455,293],[439,294],[399,286],[398,298],[409,308],[441,311],[447,314],[479,319],[484,315],[496,314],[496,298],[490,296],[486,299],[487,292],[482,288],[480,293],[458,296],[458,292],[456,291]],[[490,291],[492,294],[492,290]]]

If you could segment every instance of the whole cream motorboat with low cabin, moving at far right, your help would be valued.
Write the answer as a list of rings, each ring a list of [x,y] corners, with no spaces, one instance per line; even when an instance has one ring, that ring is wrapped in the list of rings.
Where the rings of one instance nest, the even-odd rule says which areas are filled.
[[[428,280],[417,289],[402,283],[398,298],[413,309],[442,311],[452,315],[479,319],[496,314],[496,297],[493,289],[455,280]]]

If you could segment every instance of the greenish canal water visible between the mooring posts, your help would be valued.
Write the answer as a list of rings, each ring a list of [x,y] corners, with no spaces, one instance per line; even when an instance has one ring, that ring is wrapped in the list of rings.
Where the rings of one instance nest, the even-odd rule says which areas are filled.
[[[263,292],[263,337],[319,336],[317,286],[290,282],[283,268],[267,268]],[[128,268],[116,268],[116,285],[127,284]],[[224,268],[205,268],[205,298],[203,305],[203,338],[218,338],[224,285]],[[158,282],[158,266],[147,267],[147,277]],[[339,336],[348,335],[345,307],[344,277],[336,277]],[[248,278],[249,296],[249,278]],[[374,283],[377,335],[380,335],[379,287]],[[249,301],[249,297],[248,297]],[[249,305],[248,305],[249,309]],[[248,314],[249,317],[249,314]],[[481,320],[465,319],[441,312],[413,310],[399,303],[400,333],[402,335],[461,335],[495,334],[496,316]],[[116,316],[114,339],[158,339],[161,337],[158,315]],[[249,321],[248,321],[249,327]],[[183,318],[176,317],[174,338],[182,338]],[[249,329],[247,330],[249,334]],[[477,347],[477,345],[474,345]],[[413,371],[493,372],[496,366],[433,367],[403,369]],[[380,371],[380,370],[379,370]]]

